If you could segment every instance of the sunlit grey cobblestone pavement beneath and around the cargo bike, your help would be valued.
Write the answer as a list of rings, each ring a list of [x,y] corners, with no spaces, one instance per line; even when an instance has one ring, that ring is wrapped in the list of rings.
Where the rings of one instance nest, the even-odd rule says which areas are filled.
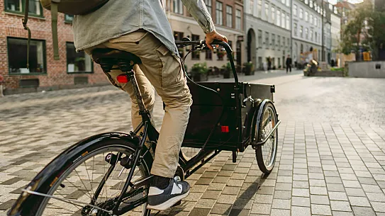
[[[221,152],[189,178],[182,205],[159,215],[385,215],[385,79],[277,71],[240,80],[276,85],[282,124],[272,174],[262,178],[252,149],[235,164]],[[127,132],[129,109],[113,86],[0,98],[0,215],[69,145]]]

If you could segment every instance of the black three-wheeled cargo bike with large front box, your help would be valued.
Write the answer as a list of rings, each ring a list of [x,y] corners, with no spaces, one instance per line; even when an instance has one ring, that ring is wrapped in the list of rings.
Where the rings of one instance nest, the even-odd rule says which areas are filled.
[[[176,44],[191,46],[189,53],[208,49],[203,40]],[[227,52],[235,81],[188,82],[194,102],[175,178],[188,178],[221,151],[232,152],[235,162],[248,146],[255,149],[260,170],[269,174],[277,157],[280,123],[274,85],[238,81],[230,46],[219,41],[212,45]],[[118,81],[133,85],[142,123],[128,134],[106,132],[66,149],[22,190],[8,215],[150,215],[147,191],[159,133],[135,80],[133,65],[140,64],[140,58],[112,49],[94,50],[92,57],[107,75],[116,67],[125,72]]]

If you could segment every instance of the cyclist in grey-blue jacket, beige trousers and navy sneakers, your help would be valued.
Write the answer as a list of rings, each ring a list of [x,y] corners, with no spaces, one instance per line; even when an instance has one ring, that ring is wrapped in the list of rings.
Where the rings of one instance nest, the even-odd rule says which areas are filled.
[[[148,194],[147,208],[165,210],[189,194],[189,183],[173,178],[178,154],[189,120],[191,94],[186,84],[182,64],[171,26],[164,13],[163,0],[114,0],[93,13],[75,16],[74,45],[77,51],[91,55],[95,48],[113,48],[131,52],[142,60],[135,65],[135,77],[147,110],[154,108],[155,90],[166,104],[155,151],[151,174],[155,176]],[[184,6],[206,33],[206,43],[214,39],[228,42],[216,32],[203,0],[182,0]],[[132,123],[141,122],[139,107],[130,83],[118,84],[113,70],[111,82],[126,91],[131,98]],[[154,89],[155,88],[155,89]]]

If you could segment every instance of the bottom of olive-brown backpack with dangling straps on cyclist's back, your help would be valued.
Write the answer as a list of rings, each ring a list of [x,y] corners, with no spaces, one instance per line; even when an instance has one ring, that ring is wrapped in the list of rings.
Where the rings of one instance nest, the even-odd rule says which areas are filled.
[[[43,8],[51,11],[52,16],[52,45],[54,51],[54,59],[59,59],[59,48],[57,42],[57,12],[67,13],[69,15],[84,15],[96,11],[104,6],[108,0],[40,0]],[[30,30],[27,27],[28,21],[28,3],[26,1],[26,14],[23,19],[23,25],[28,30],[28,52],[30,41]],[[29,55],[27,55],[29,57]],[[28,67],[28,63],[27,63]]]

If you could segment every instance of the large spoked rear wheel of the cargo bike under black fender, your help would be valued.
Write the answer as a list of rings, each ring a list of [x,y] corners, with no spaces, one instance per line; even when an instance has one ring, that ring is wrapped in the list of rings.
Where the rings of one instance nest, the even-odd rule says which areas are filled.
[[[63,168],[62,174],[48,191],[48,195],[66,200],[45,198],[36,215],[109,215],[106,211],[111,210],[115,205],[130,169],[135,169],[131,182],[150,174],[152,166],[150,154],[145,154],[139,166],[132,168],[127,165],[127,168],[121,166],[119,161],[125,157],[132,157],[135,148],[135,144],[123,140],[103,140],[95,143],[89,149],[83,149],[82,151],[87,154],[71,166]],[[97,195],[97,191],[99,191],[99,195]],[[147,191],[148,188],[145,187],[130,191],[129,187],[120,207],[133,205],[139,200],[143,200],[143,203],[135,205],[138,207],[123,215],[150,215],[150,210],[146,209],[147,199],[143,199],[147,195]],[[65,202],[68,201],[67,199],[72,202]],[[80,205],[76,201],[89,203],[100,209],[87,204],[80,203]]]

